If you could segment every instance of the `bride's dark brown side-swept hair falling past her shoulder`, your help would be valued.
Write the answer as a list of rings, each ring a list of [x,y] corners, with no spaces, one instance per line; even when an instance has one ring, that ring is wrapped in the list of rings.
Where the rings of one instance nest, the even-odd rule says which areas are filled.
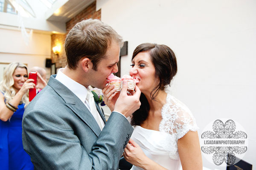
[[[147,51],[155,68],[155,77],[159,78],[159,84],[150,93],[151,100],[154,100],[159,90],[163,90],[166,85],[169,85],[176,75],[177,61],[172,49],[166,45],[155,43],[142,43],[137,46],[132,55],[132,60],[140,52]],[[149,104],[143,93],[140,95],[140,102],[140,109],[133,113],[131,125],[140,125],[148,117]]]

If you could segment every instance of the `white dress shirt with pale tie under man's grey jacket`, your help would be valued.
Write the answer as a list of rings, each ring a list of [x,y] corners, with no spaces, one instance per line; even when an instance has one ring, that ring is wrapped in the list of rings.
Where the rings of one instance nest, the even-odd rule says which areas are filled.
[[[78,82],[74,81],[73,79],[69,78],[67,75],[65,75],[62,70],[64,68],[61,68],[58,70],[58,73],[56,75],[56,80],[58,80],[59,82],[61,82],[62,84],[64,84],[64,86],[66,86],[68,89],[71,90],[71,92],[73,92],[83,103],[84,105],[87,107],[88,110],[93,110],[94,112],[91,112],[94,119],[96,120],[97,124],[99,125],[100,129],[102,130],[103,127],[105,126],[104,121],[102,120],[101,116],[99,115],[99,112],[94,108],[90,108],[90,103],[88,103],[89,101],[86,100],[86,96],[87,96],[87,88],[81,84],[79,84]],[[94,101],[91,101],[94,103]]]

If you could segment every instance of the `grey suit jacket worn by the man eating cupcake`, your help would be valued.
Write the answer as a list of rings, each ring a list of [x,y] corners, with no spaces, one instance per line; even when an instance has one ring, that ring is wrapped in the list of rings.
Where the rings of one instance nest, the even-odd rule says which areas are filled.
[[[55,79],[26,107],[24,150],[35,170],[116,170],[131,137],[128,120],[112,112],[102,132],[83,102]]]

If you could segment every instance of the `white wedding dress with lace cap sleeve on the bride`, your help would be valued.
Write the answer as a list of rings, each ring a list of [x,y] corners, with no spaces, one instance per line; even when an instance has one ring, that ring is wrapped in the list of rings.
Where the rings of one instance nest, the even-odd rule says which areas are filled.
[[[139,144],[145,155],[157,164],[168,170],[180,170],[182,168],[177,141],[189,130],[198,130],[195,118],[183,103],[170,94],[167,94],[161,115],[159,131],[135,126],[131,139]],[[143,169],[133,166],[131,170]]]

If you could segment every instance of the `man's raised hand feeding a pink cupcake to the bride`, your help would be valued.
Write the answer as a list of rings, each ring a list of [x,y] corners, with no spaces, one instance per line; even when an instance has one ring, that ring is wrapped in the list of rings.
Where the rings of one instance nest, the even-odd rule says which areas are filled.
[[[140,93],[140,89],[135,86],[134,94],[127,95],[127,81],[123,81],[122,90],[116,100],[114,111],[122,113],[126,118],[130,116],[140,108]]]

